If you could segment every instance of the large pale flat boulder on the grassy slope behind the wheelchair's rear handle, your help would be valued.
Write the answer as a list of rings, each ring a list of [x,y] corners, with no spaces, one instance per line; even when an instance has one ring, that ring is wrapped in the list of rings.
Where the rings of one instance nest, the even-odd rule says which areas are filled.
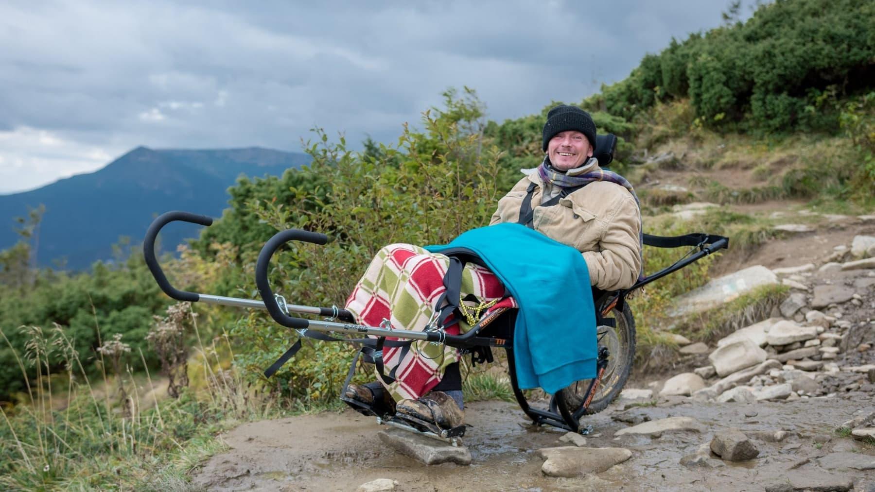
[[[671,316],[699,313],[732,301],[754,288],[778,283],[778,277],[767,267],[757,265],[739,270],[734,274],[714,279],[700,288],[677,297],[676,308]]]

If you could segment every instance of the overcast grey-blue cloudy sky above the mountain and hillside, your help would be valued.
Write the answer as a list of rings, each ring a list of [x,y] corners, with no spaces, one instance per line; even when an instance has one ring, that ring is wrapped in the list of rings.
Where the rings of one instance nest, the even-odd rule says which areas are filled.
[[[137,145],[393,142],[466,85],[503,121],[625,78],[728,0],[0,3],[0,193]],[[746,12],[747,13],[747,12]]]

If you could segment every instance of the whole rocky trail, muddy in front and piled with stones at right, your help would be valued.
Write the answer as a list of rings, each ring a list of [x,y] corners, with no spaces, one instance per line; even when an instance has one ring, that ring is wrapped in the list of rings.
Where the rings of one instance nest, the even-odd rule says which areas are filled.
[[[638,374],[606,411],[584,418],[591,435],[531,426],[517,405],[498,401],[467,405],[463,447],[352,411],[325,412],[237,427],[222,436],[229,450],[196,468],[193,483],[215,490],[875,490],[875,216],[811,223],[788,221],[784,239],[753,254],[759,263],[679,304],[695,312],[780,283],[790,291],[772,317],[711,345],[679,337],[677,367],[689,371],[660,380]]]

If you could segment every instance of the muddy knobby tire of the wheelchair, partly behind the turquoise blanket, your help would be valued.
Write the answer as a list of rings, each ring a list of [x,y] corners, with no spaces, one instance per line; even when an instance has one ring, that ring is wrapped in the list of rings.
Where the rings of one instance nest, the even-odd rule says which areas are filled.
[[[608,326],[598,327],[598,346],[607,347],[610,355],[605,374],[590,407],[584,415],[598,413],[607,408],[626,385],[629,374],[632,372],[632,364],[635,360],[635,319],[627,303],[623,304],[623,310],[613,308],[611,315],[616,320],[616,328]],[[570,412],[577,412],[584,405],[586,391],[590,387],[591,379],[581,379],[576,383],[560,390],[557,398],[563,398]]]

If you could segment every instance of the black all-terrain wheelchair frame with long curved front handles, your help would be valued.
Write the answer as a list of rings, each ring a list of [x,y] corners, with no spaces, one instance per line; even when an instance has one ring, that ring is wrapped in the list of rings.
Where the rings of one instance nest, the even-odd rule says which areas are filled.
[[[602,167],[606,167],[613,160],[613,152],[616,146],[614,135],[598,135],[595,156]],[[410,331],[392,329],[387,326],[364,326],[356,324],[353,315],[345,309],[332,306],[312,307],[292,304],[282,296],[275,295],[270,288],[268,273],[270,259],[276,251],[285,243],[293,240],[324,245],[328,238],[318,232],[290,229],[278,232],[262,247],[255,267],[255,283],[262,301],[240,299],[219,295],[198,294],[180,291],[172,287],[158,264],[155,254],[155,241],[158,232],[173,221],[183,221],[200,225],[211,225],[212,218],[196,215],[185,211],[170,211],[156,218],[144,239],[144,255],[146,264],[151,274],[158,281],[158,285],[173,299],[178,301],[206,302],[241,308],[267,309],[273,320],[285,327],[295,329],[300,336],[297,342],[291,345],[282,357],[264,371],[265,377],[272,376],[290,357],[293,357],[301,347],[303,337],[310,337],[324,342],[344,341],[361,345],[359,354],[353,359],[353,364],[344,384],[349,384],[353,376],[358,359],[363,356],[367,362],[376,365],[382,374],[382,350],[387,347],[398,347],[413,341],[425,341],[430,343],[445,344],[447,346],[470,353],[475,363],[492,362],[492,349],[503,349],[507,352],[507,364],[510,384],[513,388],[514,397],[519,403],[522,412],[532,419],[535,425],[549,425],[566,429],[575,433],[589,433],[591,426],[582,426],[580,423],[584,415],[601,412],[616,398],[626,384],[627,378],[632,371],[635,354],[635,321],[632,311],[627,304],[627,295],[648,283],[676,272],[690,265],[704,256],[714,253],[729,245],[729,239],[705,233],[692,233],[676,237],[662,237],[650,234],[643,235],[643,243],[646,246],[655,247],[681,247],[690,246],[695,248],[673,265],[662,269],[655,274],[641,276],[640,280],[631,288],[606,292],[593,288],[592,299],[595,303],[596,325],[598,337],[598,358],[596,377],[584,379],[557,391],[549,398],[549,404],[545,406],[532,405],[517,384],[514,367],[514,340],[513,326],[515,309],[497,308],[487,311],[476,324],[462,335],[450,335],[443,329],[427,329],[425,331]],[[464,265],[472,262],[486,267],[483,260],[470,251],[444,251],[447,256],[455,259],[454,262]],[[446,282],[444,282],[446,285]],[[451,308],[458,307],[459,293],[448,289],[445,296],[447,304]],[[455,306],[452,303],[455,302]],[[452,309],[451,309],[452,310]],[[556,307],[557,316],[561,313],[561,306]],[[309,320],[297,317],[300,315],[317,315],[322,320]],[[447,326],[444,324],[444,326]],[[353,335],[364,337],[331,336],[332,334]],[[379,406],[366,405],[352,398],[344,398],[341,389],[341,399],[358,412],[374,415],[381,424],[402,427],[417,433],[423,433],[430,437],[447,440],[455,444],[456,440],[464,435],[465,426],[451,429],[442,429],[433,424],[416,419],[402,419],[390,412],[386,412]]]

